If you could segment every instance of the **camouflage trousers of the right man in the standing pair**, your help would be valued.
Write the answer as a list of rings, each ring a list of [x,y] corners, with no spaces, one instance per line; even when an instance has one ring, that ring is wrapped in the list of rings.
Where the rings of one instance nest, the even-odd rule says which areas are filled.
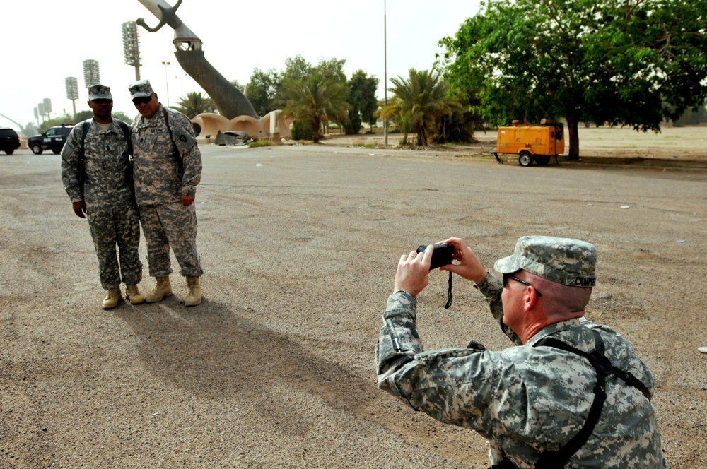
[[[170,247],[182,268],[182,275],[201,277],[201,260],[197,253],[197,210],[194,204],[181,202],[140,206],[140,222],[147,242],[150,275],[163,277],[172,273]]]

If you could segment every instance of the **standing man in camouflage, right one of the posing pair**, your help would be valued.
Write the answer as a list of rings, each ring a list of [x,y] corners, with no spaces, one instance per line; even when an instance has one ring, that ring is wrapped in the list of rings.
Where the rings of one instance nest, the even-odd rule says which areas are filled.
[[[201,153],[192,123],[184,114],[160,104],[147,80],[128,87],[140,113],[133,122],[135,196],[147,242],[150,275],[156,285],[145,301],[172,295],[170,246],[187,278],[187,306],[201,303],[199,277],[204,271],[197,253],[194,208],[201,179]]]

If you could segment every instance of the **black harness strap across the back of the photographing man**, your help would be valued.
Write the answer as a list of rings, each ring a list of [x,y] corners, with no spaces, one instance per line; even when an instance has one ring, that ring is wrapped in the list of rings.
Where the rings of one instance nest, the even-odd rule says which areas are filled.
[[[623,370],[614,367],[612,362],[604,355],[604,340],[602,340],[596,329],[592,329],[594,333],[595,340],[595,350],[593,352],[587,353],[563,343],[561,340],[555,338],[546,337],[539,340],[534,347],[554,347],[560,350],[565,350],[566,352],[572,352],[580,357],[587,359],[592,367],[597,372],[597,384],[594,386],[594,402],[589,410],[589,416],[584,426],[580,429],[578,434],[575,434],[570,441],[567,442],[565,446],[562,446],[556,451],[544,451],[540,458],[535,463],[535,468],[562,468],[573,456],[574,453],[578,451],[589,439],[594,427],[599,422],[599,417],[602,413],[602,408],[604,407],[604,401],[607,399],[606,393],[606,377],[609,374],[617,376],[617,378],[624,381],[629,386],[637,388],[641,391],[643,395],[650,400],[650,391],[636,376],[633,376],[630,372],[624,372]]]

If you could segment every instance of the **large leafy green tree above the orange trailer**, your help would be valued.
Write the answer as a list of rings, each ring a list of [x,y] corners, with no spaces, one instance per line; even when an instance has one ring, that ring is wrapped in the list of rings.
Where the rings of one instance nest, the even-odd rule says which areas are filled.
[[[440,40],[450,84],[492,124],[564,117],[660,131],[707,96],[704,0],[489,0]]]

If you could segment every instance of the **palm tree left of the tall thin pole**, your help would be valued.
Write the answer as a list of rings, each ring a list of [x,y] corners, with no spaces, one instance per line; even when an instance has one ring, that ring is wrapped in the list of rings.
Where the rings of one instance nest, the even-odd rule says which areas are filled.
[[[286,80],[282,83],[282,89],[287,100],[283,114],[308,121],[314,131],[315,143],[322,138],[322,123],[334,121],[343,124],[349,119],[351,105],[346,102],[349,97],[346,83],[322,78],[315,73],[307,81]]]

